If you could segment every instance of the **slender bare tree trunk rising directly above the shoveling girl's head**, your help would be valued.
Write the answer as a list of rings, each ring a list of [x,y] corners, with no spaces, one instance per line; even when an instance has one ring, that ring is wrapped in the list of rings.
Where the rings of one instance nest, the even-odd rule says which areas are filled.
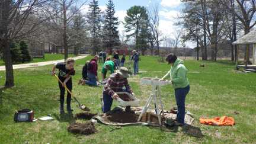
[[[63,2],[63,47],[64,47],[64,59],[68,59],[68,41],[66,37],[66,5]]]

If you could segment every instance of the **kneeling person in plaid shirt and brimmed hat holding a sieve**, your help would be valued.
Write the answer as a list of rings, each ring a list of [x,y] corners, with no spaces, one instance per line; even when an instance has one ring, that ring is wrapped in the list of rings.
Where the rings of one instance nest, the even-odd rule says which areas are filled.
[[[117,100],[119,97],[116,92],[129,92],[132,94],[132,89],[128,84],[127,78],[129,77],[129,71],[125,67],[121,67],[116,73],[110,75],[110,78],[107,80],[107,84],[103,90],[103,113],[107,113],[111,110],[111,105],[113,103],[113,99]],[[126,111],[132,111],[130,106],[126,107]]]

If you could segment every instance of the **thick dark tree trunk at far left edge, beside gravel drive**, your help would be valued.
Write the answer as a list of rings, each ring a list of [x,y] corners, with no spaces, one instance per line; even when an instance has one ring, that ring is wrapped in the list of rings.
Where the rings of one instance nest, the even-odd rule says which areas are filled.
[[[9,41],[5,40],[3,44],[3,54],[5,62],[5,87],[14,87],[14,72],[12,67],[11,49],[9,47]]]

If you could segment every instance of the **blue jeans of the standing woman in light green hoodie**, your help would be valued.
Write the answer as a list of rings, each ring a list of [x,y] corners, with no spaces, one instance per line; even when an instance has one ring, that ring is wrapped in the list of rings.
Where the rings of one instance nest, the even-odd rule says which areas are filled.
[[[185,119],[185,97],[190,91],[190,85],[185,88],[175,89],[175,99],[178,106],[177,121],[178,123],[184,124]]]

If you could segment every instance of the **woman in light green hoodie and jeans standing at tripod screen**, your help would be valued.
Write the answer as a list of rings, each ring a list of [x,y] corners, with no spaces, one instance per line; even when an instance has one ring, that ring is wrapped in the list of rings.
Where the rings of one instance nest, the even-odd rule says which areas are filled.
[[[184,66],[183,60],[177,58],[173,54],[169,54],[165,59],[171,65],[170,71],[161,79],[164,81],[167,76],[171,78],[172,85],[175,91],[175,100],[178,106],[176,126],[185,124],[185,97],[190,91],[190,84],[187,78],[187,68]]]

